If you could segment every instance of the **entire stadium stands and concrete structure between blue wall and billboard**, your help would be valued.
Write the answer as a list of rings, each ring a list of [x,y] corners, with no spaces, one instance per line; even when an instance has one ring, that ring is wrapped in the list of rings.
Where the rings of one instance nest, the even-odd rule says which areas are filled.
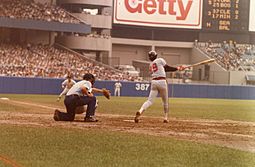
[[[1,0],[0,75],[61,78],[72,70],[75,78],[88,71],[96,73],[99,80],[140,81],[110,66],[147,61],[146,53],[151,49],[172,65],[215,58],[217,63],[193,69],[192,82],[243,85],[245,76],[255,71],[254,45],[215,43],[230,39],[248,43],[247,34],[243,37],[232,32],[215,35],[209,31],[121,25],[113,20],[113,4],[112,0]],[[200,42],[208,40],[214,43]],[[57,44],[66,48],[51,47]],[[146,63],[144,66],[147,69]],[[148,73],[137,68],[140,74]],[[183,79],[179,73],[168,77]]]

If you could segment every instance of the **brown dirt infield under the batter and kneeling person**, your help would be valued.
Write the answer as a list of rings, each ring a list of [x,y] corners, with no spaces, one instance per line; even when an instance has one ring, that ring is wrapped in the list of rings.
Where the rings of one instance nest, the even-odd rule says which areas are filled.
[[[9,103],[6,101],[5,103]],[[171,118],[168,124],[159,117],[142,117],[134,123],[133,116],[98,113],[97,123],[83,122],[83,115],[76,115],[74,122],[55,122],[53,108],[37,104],[12,101],[16,105],[30,105],[47,109],[47,113],[7,112],[0,109],[0,124],[17,126],[41,126],[78,129],[102,129],[109,131],[147,134],[171,137],[234,148],[255,153],[255,123],[232,120],[177,119]]]

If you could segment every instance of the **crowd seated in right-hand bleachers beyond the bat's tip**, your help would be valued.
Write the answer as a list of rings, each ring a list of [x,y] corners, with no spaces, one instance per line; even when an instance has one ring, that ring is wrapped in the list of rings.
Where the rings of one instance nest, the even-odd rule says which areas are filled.
[[[254,71],[255,46],[237,44],[232,41],[222,43],[198,43],[196,45],[226,70]]]

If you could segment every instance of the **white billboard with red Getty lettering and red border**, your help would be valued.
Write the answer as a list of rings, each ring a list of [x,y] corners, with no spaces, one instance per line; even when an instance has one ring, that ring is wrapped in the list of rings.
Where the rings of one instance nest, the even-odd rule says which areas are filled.
[[[200,29],[202,0],[114,0],[114,23]]]

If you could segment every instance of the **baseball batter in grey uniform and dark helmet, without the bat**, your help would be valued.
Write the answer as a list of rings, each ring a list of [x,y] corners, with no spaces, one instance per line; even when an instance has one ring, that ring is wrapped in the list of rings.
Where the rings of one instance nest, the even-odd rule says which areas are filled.
[[[164,106],[164,123],[168,123],[168,113],[169,113],[169,104],[168,104],[168,84],[166,80],[166,72],[174,72],[177,70],[183,70],[184,67],[171,67],[166,64],[166,61],[163,58],[157,58],[157,52],[150,51],[148,53],[150,61],[150,73],[152,76],[151,81],[151,90],[148,97],[148,100],[143,103],[142,107],[138,112],[136,112],[135,122],[139,122],[139,117],[142,113],[149,108],[154,99],[159,94],[162,98],[163,106]]]

